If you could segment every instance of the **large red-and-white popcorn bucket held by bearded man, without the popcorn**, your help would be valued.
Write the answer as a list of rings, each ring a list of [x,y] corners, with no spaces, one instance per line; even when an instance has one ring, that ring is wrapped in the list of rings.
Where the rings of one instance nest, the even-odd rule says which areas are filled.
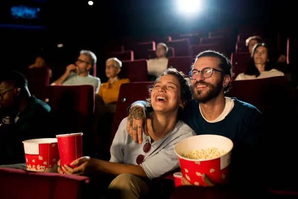
[[[218,148],[226,153],[220,157],[206,160],[187,159],[183,155],[196,149]],[[202,179],[205,174],[215,184],[227,182],[231,153],[233,149],[232,140],[218,135],[200,135],[186,138],[175,146],[183,177],[194,185],[206,186]]]

